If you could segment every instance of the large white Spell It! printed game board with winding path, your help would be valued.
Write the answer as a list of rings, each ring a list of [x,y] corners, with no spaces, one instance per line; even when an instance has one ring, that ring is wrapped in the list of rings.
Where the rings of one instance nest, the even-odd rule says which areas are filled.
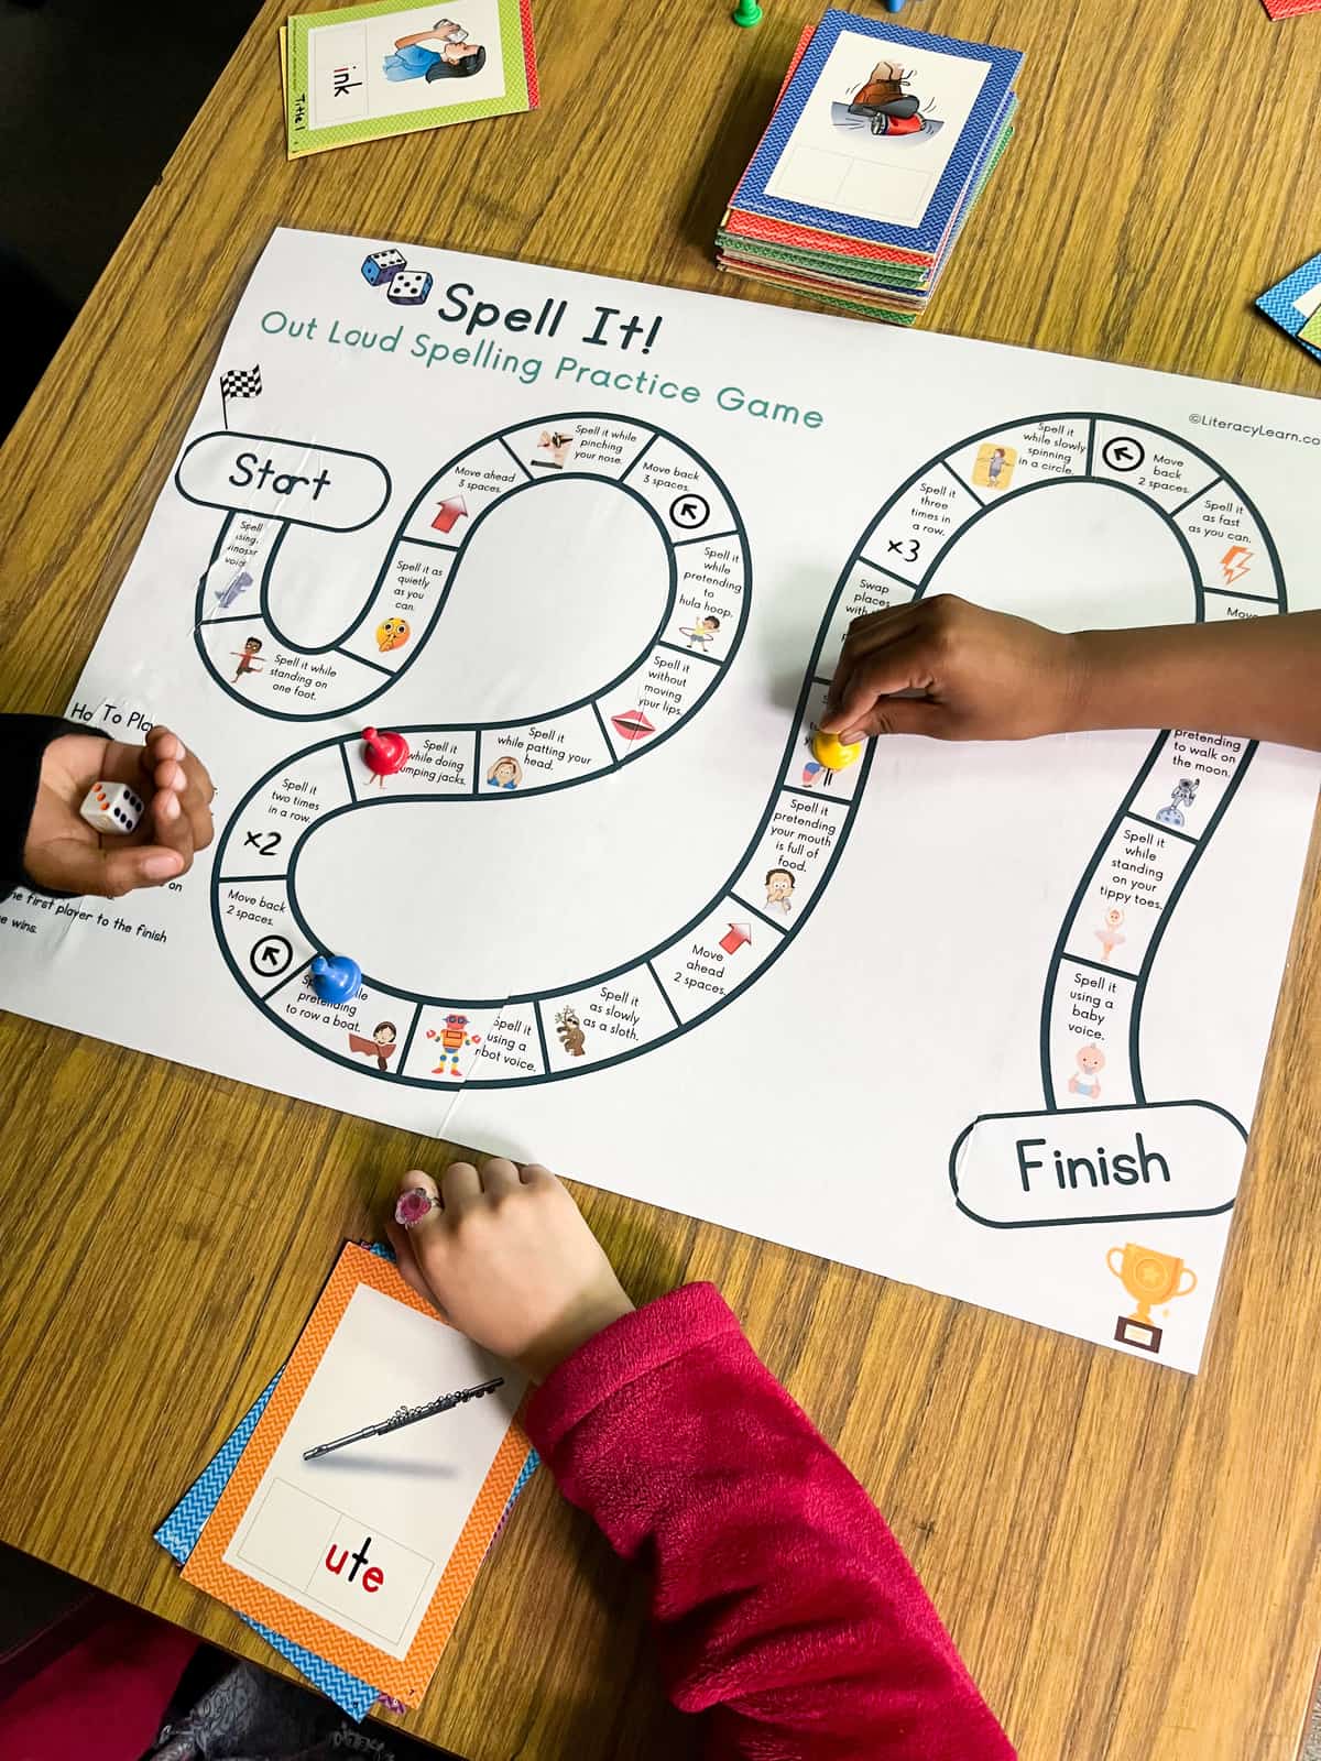
[[[217,842],[0,907],[0,1000],[1196,1370],[1321,766],[808,741],[926,593],[1321,602],[1317,458],[1302,398],[280,231],[69,710],[180,729]]]

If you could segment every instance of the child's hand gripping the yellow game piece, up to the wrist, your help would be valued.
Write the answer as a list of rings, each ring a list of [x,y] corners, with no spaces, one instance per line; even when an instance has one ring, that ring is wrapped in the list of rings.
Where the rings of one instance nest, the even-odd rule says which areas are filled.
[[[845,745],[1030,740],[1067,726],[1074,689],[1071,636],[939,593],[852,623],[821,727]]]

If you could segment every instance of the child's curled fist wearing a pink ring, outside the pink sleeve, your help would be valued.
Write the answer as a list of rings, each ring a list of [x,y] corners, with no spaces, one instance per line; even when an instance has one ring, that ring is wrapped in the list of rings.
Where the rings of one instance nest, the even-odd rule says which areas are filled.
[[[601,1243],[548,1168],[502,1157],[451,1162],[437,1185],[416,1169],[400,1197],[433,1203],[387,1224],[403,1278],[477,1345],[535,1381],[632,1310]]]

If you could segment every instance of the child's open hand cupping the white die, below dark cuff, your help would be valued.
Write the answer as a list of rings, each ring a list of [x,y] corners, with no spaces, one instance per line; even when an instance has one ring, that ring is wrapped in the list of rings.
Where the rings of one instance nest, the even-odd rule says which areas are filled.
[[[129,836],[106,838],[79,817],[95,782],[123,782],[146,801]],[[153,727],[144,747],[99,734],[60,734],[46,747],[23,844],[23,868],[58,893],[122,898],[192,868],[211,842],[211,778],[178,734]]]

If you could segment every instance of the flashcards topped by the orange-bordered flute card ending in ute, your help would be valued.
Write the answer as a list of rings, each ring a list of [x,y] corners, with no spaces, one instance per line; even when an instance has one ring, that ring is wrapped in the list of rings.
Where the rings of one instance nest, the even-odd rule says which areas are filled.
[[[416,1706],[535,1467],[520,1370],[347,1243],[284,1370],[155,1539],[361,1719]]]

